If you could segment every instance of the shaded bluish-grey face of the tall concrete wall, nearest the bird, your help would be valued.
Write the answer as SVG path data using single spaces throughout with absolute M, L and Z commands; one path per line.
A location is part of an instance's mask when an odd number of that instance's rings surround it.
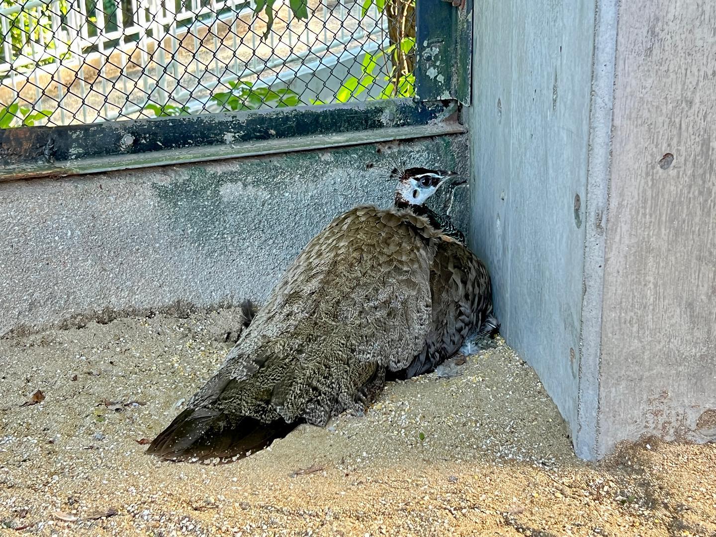
M 488 1 L 474 21 L 473 247 L 505 338 L 574 430 L 594 2 Z

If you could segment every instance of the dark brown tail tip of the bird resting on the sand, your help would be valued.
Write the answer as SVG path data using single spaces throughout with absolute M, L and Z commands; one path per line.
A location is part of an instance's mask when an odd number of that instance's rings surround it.
M 243 458 L 291 432 L 296 423 L 263 423 L 243 417 L 233 425 L 221 410 L 188 408 L 175 417 L 147 448 L 168 460 Z

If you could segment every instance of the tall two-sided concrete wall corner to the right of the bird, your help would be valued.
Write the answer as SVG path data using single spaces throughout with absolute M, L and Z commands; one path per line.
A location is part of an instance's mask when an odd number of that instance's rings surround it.
M 585 458 L 716 439 L 716 4 L 475 9 L 472 239 L 506 339 Z

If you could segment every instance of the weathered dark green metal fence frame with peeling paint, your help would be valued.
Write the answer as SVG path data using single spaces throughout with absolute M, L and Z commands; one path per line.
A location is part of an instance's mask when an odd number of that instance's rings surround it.
M 0 181 L 465 132 L 471 19 L 472 0 L 417 0 L 413 100 L 0 129 Z

